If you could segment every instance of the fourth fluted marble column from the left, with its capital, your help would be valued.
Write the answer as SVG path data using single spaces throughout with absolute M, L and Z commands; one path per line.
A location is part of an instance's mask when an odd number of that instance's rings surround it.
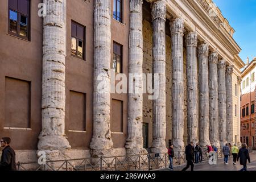
M 166 2 L 152 7 L 154 74 L 159 75 L 159 97 L 153 102 L 153 141 L 151 152 L 166 152 Z

